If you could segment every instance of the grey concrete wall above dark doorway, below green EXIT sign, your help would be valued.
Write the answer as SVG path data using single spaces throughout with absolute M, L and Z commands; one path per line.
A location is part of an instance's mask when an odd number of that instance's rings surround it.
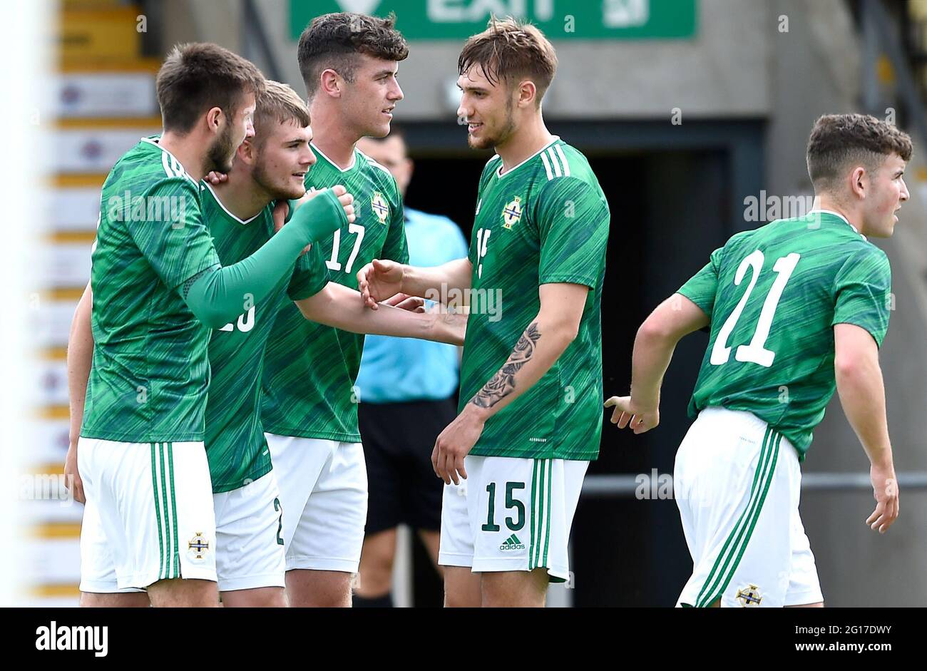
M 303 87 L 296 44 L 288 36 L 279 0 L 260 0 L 271 41 L 278 44 L 286 80 Z M 693 40 L 555 44 L 560 67 L 545 98 L 545 114 L 562 118 L 647 118 L 683 115 L 718 118 L 768 113 L 766 63 L 775 25 L 764 3 L 700 0 Z M 555 34 L 550 35 L 552 39 Z M 400 65 L 405 100 L 400 120 L 453 119 L 446 90 L 457 79 L 462 43 L 415 42 Z M 629 95 L 633 92 L 633 95 Z

